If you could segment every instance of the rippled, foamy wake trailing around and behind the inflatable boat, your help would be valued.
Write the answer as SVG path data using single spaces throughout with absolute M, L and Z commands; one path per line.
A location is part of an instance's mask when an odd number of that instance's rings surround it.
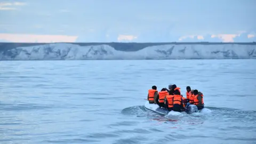
M 244 111 L 233 108 L 218 108 L 218 107 L 205 107 L 200 111 L 200 113 L 187 114 L 185 111 L 181 113 L 177 111 L 170 111 L 166 116 L 155 113 L 154 111 L 147 110 L 145 106 L 133 106 L 124 108 L 121 111 L 124 115 L 135 115 L 137 117 L 147 117 L 155 121 L 164 121 L 164 122 L 177 122 L 177 121 L 186 121 L 191 124 L 195 124 L 200 119 L 241 119 L 246 118 L 246 121 L 254 121 L 254 116 L 256 111 Z M 202 123 L 201 121 L 199 123 Z

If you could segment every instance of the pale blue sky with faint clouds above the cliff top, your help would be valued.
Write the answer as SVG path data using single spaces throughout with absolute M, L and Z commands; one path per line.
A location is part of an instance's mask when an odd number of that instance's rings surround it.
M 256 42 L 255 0 L 0 0 L 0 42 Z

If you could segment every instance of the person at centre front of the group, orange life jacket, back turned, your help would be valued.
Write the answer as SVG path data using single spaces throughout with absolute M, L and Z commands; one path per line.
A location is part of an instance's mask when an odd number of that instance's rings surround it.
M 173 95 L 173 111 L 181 112 L 183 108 L 183 100 L 180 95 L 179 87 L 176 87 L 174 89 L 174 95 Z

